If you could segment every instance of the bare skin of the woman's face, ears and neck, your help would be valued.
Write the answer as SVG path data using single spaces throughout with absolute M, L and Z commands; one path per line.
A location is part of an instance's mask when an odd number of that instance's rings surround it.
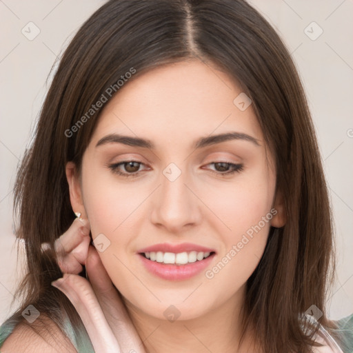
M 261 259 L 270 225 L 285 224 L 273 157 L 252 105 L 241 111 L 233 103 L 241 92 L 227 74 L 201 61 L 151 70 L 105 103 L 81 174 L 73 163 L 66 166 L 72 209 L 88 219 L 93 239 L 99 234 L 109 239 L 99 257 L 147 352 L 175 352 L 180 342 L 183 352 L 205 352 L 205 347 L 234 352 L 246 281 Z M 234 131 L 259 145 L 230 140 L 192 147 L 201 137 Z M 149 139 L 156 147 L 96 147 L 112 133 Z M 119 171 L 138 170 L 138 177 L 122 177 L 108 167 L 126 160 L 142 164 L 121 165 Z M 243 170 L 222 177 L 212 162 L 241 163 Z M 170 163 L 181 171 L 175 181 L 163 174 Z M 272 208 L 276 215 L 212 279 L 203 271 L 192 279 L 166 281 L 145 270 L 137 254 L 157 243 L 191 242 L 216 251 L 212 269 Z M 180 312 L 177 321 L 163 314 L 170 305 Z M 248 332 L 239 352 L 250 349 L 253 334 Z

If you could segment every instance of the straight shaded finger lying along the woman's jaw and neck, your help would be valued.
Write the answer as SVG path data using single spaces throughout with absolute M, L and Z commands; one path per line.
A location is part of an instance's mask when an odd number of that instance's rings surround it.
M 119 292 L 112 284 L 97 250 L 90 246 L 86 270 L 92 288 L 102 307 L 105 317 L 112 327 L 123 352 L 145 352 L 143 343 L 125 308 Z

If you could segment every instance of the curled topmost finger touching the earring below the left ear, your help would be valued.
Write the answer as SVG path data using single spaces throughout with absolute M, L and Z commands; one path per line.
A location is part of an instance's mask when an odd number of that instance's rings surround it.
M 70 228 L 66 230 L 54 243 L 55 251 L 71 252 L 74 248 L 90 235 L 90 223 L 88 219 L 74 219 Z

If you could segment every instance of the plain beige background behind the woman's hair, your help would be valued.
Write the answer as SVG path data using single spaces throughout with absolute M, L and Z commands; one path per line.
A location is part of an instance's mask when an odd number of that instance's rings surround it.
M 0 322 L 9 314 L 14 292 L 12 188 L 17 163 L 30 141 L 54 60 L 104 2 L 0 0 Z M 353 313 L 353 1 L 250 3 L 292 52 L 310 101 L 336 223 L 338 281 L 328 299 L 329 316 L 340 319 Z M 40 32 L 30 41 L 21 30 L 29 36 L 35 34 L 35 26 Z

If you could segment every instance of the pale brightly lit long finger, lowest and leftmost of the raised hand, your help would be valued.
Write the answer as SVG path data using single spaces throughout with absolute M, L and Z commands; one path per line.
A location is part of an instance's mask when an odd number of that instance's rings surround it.
M 52 282 L 52 285 L 63 292 L 74 305 L 90 336 L 95 352 L 121 352 L 97 297 L 86 279 L 76 274 L 64 274 L 62 279 Z

